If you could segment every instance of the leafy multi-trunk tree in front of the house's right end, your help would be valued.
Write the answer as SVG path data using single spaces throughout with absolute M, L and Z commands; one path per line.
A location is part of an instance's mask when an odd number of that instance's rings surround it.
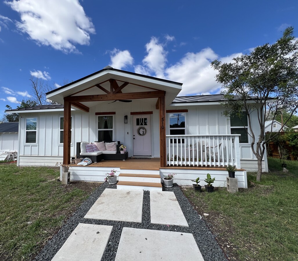
M 242 111 L 247 115 L 247 131 L 251 136 L 252 152 L 257 158 L 258 181 L 261 179 L 266 143 L 280 132 L 264 137 L 268 115 L 275 119 L 286 110 L 292 116 L 298 108 L 298 41 L 293 31 L 293 27 L 285 29 L 283 37 L 276 43 L 258 46 L 250 54 L 234 58 L 233 62 L 215 60 L 211 63 L 218 70 L 216 80 L 224 87 L 224 115 L 240 116 Z M 252 112 L 257 115 L 258 130 L 252 128 Z M 287 124 L 288 120 L 283 124 Z

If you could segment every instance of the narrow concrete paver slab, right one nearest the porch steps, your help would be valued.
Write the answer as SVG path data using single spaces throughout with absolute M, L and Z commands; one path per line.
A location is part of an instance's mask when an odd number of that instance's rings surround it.
M 150 212 L 152 224 L 188 226 L 172 191 L 150 191 Z

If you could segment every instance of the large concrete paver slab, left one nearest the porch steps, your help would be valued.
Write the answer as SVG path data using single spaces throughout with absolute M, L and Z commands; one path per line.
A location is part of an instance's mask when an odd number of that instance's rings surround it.
M 143 190 L 106 188 L 84 218 L 142 222 Z

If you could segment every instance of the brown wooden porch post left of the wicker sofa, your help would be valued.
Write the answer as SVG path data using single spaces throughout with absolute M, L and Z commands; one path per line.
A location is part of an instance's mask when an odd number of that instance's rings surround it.
M 70 143 L 71 143 L 71 103 L 64 101 L 64 128 L 63 128 L 63 163 L 70 164 Z

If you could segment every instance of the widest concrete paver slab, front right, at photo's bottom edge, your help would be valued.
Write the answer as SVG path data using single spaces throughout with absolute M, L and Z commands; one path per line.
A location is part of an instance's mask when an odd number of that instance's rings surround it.
M 124 227 L 115 261 L 204 261 L 192 234 Z

